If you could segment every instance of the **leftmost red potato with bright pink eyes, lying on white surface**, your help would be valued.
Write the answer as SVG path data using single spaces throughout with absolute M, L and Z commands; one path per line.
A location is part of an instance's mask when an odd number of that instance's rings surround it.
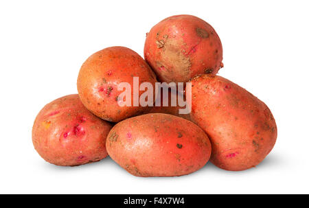
M 78 95 L 47 104 L 38 113 L 32 141 L 38 154 L 55 165 L 82 165 L 107 156 L 106 137 L 112 126 L 95 117 Z

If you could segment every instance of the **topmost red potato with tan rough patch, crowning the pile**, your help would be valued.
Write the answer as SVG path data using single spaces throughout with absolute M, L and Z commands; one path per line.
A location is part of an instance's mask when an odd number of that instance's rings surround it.
M 222 67 L 222 44 L 211 25 L 192 15 L 170 16 L 146 36 L 144 58 L 161 82 L 187 82 Z

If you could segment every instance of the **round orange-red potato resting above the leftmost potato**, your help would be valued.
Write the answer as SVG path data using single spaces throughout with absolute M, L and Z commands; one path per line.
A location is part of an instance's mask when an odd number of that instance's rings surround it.
M 86 108 L 109 122 L 150 111 L 150 107 L 133 106 L 133 77 L 150 82 L 155 89 L 157 78 L 148 64 L 135 51 L 126 47 L 108 47 L 90 56 L 78 75 L 78 93 Z M 121 82 L 131 86 L 131 106 L 119 106 L 117 100 L 123 91 L 117 88 Z M 139 91 L 139 96 L 144 91 Z M 128 97 L 122 97 L 126 100 Z M 153 99 L 155 101 L 155 99 Z

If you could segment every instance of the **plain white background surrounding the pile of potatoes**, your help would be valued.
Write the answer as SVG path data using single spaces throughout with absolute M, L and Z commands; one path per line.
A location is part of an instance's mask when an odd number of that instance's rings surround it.
M 309 194 L 308 8 L 306 1 L 1 1 L 0 193 Z M 242 172 L 207 163 L 171 178 L 131 176 L 110 158 L 79 167 L 41 159 L 34 118 L 77 93 L 82 62 L 114 45 L 143 56 L 146 32 L 174 14 L 210 23 L 223 46 L 219 75 L 271 108 L 278 137 L 268 157 Z

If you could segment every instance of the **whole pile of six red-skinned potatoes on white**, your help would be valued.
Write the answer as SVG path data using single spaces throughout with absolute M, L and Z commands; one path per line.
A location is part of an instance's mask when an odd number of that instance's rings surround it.
M 78 75 L 78 95 L 60 97 L 38 113 L 32 128 L 38 154 L 71 166 L 109 155 L 135 176 L 181 176 L 209 160 L 225 170 L 246 170 L 271 152 L 275 119 L 264 102 L 216 76 L 222 45 L 211 25 L 196 16 L 170 16 L 147 34 L 144 58 L 126 47 L 91 55 Z M 133 86 L 136 77 L 154 86 L 191 82 L 192 112 L 119 106 L 119 84 Z

